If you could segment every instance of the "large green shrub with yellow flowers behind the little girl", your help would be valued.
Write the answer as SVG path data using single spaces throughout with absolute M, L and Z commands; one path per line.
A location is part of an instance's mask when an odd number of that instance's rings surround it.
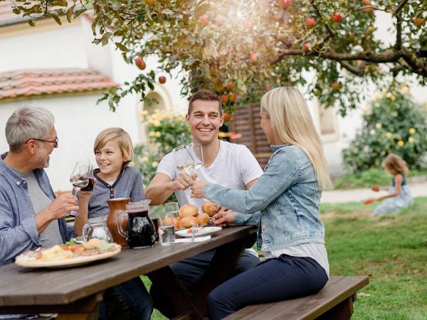
M 351 171 L 381 166 L 393 152 L 413 169 L 427 166 L 427 111 L 408 94 L 408 87 L 384 88 L 363 115 L 364 124 L 347 149 L 344 165 Z

